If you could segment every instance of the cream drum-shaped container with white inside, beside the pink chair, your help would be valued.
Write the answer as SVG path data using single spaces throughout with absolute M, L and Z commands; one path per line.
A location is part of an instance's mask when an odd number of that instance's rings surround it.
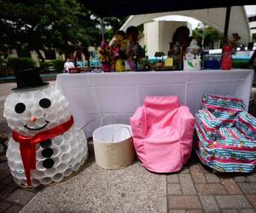
M 131 126 L 110 124 L 93 132 L 96 164 L 104 169 L 121 169 L 135 161 Z

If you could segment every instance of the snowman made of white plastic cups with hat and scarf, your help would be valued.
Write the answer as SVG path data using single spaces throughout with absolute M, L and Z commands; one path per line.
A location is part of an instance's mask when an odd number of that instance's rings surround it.
M 6 157 L 20 186 L 62 181 L 78 171 L 88 156 L 84 131 L 73 124 L 61 91 L 44 83 L 37 69 L 15 72 L 17 88 L 4 102 L 12 137 Z

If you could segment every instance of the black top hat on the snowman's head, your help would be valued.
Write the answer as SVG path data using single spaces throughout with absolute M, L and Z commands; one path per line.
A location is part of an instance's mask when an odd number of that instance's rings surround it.
M 49 84 L 48 82 L 43 82 L 37 68 L 15 71 L 15 81 L 17 83 L 17 87 L 13 90 L 30 89 Z

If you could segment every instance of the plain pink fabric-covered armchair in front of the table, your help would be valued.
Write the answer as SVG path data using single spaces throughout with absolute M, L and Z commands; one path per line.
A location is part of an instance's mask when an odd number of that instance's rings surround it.
M 131 117 L 137 156 L 158 173 L 181 170 L 190 157 L 195 118 L 177 96 L 146 96 Z

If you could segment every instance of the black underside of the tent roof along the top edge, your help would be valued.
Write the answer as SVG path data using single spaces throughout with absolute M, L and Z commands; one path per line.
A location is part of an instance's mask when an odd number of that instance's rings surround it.
M 87 9 L 102 17 L 129 14 L 151 14 L 159 12 L 224 8 L 255 4 L 255 0 L 80 0 Z

